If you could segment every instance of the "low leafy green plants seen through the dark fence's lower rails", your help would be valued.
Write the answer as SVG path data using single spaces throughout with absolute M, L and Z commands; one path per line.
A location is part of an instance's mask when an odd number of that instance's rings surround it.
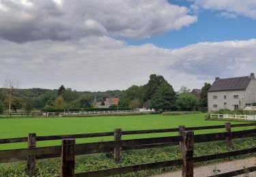
M 246 138 L 240 140 L 233 140 L 234 150 L 244 148 L 253 148 L 256 144 L 256 138 Z M 221 152 L 228 152 L 229 148 L 225 146 L 225 142 L 207 142 L 195 144 L 194 155 L 210 155 Z M 241 159 L 250 157 L 252 155 L 242 155 L 231 159 Z M 113 167 L 122 167 L 128 165 L 136 165 L 141 163 L 152 163 L 156 161 L 168 161 L 182 158 L 177 146 L 170 146 L 165 148 L 152 148 L 147 150 L 127 150 L 122 152 L 122 163 L 116 164 L 113 160 L 113 153 L 102 153 L 96 155 L 76 156 L 75 172 L 89 172 L 94 170 L 102 170 Z M 208 161 L 205 163 L 197 163 L 195 165 L 205 165 L 208 163 L 217 163 L 223 160 Z M 25 162 L 0 164 L 0 176 L 26 176 Z M 45 159 L 37 161 L 38 176 L 55 176 L 59 175 L 60 160 Z M 161 174 L 178 170 L 180 167 L 165 167 L 157 170 L 145 170 L 141 172 L 130 173 L 122 176 L 150 176 L 153 174 Z M 213 169 L 212 169 L 213 170 Z

